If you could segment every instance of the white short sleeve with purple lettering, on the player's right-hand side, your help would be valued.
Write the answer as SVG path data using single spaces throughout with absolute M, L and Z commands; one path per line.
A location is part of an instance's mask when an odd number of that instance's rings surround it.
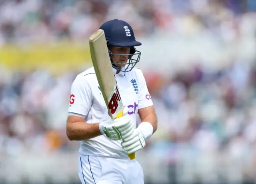
M 147 87 L 147 84 L 146 84 L 146 80 L 145 80 L 145 78 L 142 74 L 142 71 L 139 70 L 137 75 L 138 75 L 138 81 L 139 81 L 138 86 L 140 88 L 138 108 L 141 109 L 141 108 L 145 108 L 145 107 L 148 107 L 148 106 L 153 106 L 153 102 L 152 102 L 151 96 L 148 92 L 148 87 Z

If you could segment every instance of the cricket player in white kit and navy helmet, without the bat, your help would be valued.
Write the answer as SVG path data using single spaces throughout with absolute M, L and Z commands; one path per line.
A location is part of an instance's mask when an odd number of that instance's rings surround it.
M 92 67 L 72 83 L 66 133 L 70 140 L 81 141 L 78 175 L 82 184 L 144 184 L 142 167 L 127 156 L 142 149 L 157 129 L 144 76 L 134 68 L 141 54 L 135 46 L 141 43 L 122 20 L 107 21 L 100 29 L 105 32 L 124 104 L 123 117 L 110 118 Z

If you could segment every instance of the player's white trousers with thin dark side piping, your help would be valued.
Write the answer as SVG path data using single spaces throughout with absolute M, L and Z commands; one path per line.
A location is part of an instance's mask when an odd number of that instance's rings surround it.
M 82 184 L 144 184 L 143 170 L 136 159 L 80 156 L 78 166 Z

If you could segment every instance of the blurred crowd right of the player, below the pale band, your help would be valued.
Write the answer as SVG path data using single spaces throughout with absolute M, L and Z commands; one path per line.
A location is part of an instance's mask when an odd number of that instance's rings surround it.
M 195 66 L 147 80 L 158 113 L 156 140 L 238 158 L 256 150 L 255 64 L 234 61 L 217 71 Z

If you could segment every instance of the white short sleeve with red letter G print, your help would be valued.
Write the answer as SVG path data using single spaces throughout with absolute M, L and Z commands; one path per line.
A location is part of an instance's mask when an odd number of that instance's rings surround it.
M 92 92 L 85 78 L 76 77 L 71 85 L 68 112 L 87 116 L 92 105 Z

